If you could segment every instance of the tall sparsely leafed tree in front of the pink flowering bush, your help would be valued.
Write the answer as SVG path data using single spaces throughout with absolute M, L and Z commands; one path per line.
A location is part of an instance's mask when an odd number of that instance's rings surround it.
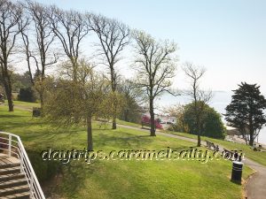
M 141 31 L 134 32 L 133 36 L 136 41 L 136 86 L 142 88 L 149 100 L 151 136 L 155 136 L 154 100 L 165 92 L 173 94 L 170 86 L 176 70 L 176 43 L 157 42 Z

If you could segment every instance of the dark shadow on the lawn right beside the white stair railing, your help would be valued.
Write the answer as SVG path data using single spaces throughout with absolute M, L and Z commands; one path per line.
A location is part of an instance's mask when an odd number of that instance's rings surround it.
M 89 172 L 97 172 L 98 170 L 97 166 L 86 166 L 82 161 L 74 162 L 72 160 L 67 165 L 63 165 L 62 162 L 55 160 L 44 161 L 37 149 L 27 149 L 27 154 L 38 180 L 41 185 L 45 186 L 46 196 L 62 192 L 62 195 L 66 193 L 69 198 L 74 198 L 77 190 L 81 188 L 83 181 L 86 180 L 84 172 L 88 169 L 90 169 Z M 58 184 L 57 179 L 59 176 L 62 179 L 59 180 Z

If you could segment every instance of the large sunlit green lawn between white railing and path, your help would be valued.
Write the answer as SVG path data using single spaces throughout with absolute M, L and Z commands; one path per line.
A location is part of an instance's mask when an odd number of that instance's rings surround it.
M 88 165 L 72 161 L 43 162 L 43 149 L 84 149 L 84 127 L 55 128 L 42 119 L 31 117 L 28 111 L 8 112 L 0 105 L 0 130 L 19 134 L 43 185 L 51 184 L 49 195 L 60 198 L 242 198 L 243 186 L 230 181 L 231 162 L 225 160 L 202 164 L 199 161 L 116 160 L 95 161 Z M 93 125 L 94 149 L 109 152 L 121 149 L 189 149 L 195 147 L 164 136 L 150 137 L 147 133 Z M 243 177 L 253 171 L 245 166 Z M 46 188 L 47 190 L 47 188 Z

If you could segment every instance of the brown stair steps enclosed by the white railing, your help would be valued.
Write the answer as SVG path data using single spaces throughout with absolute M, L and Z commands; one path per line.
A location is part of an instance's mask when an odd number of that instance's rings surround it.
M 20 161 L 15 157 L 0 154 L 0 199 L 29 197 L 29 187 Z

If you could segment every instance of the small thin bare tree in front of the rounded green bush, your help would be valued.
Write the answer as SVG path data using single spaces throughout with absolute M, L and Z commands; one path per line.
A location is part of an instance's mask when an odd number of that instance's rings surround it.
M 196 122 L 196 134 L 198 135 L 198 147 L 200 147 L 200 135 L 202 131 L 202 114 L 204 112 L 205 104 L 212 98 L 211 91 L 204 91 L 200 89 L 200 80 L 206 69 L 204 67 L 192 65 L 192 63 L 184 64 L 184 73 L 191 80 L 191 89 L 185 92 L 188 96 L 192 97 L 194 104 L 194 116 Z

